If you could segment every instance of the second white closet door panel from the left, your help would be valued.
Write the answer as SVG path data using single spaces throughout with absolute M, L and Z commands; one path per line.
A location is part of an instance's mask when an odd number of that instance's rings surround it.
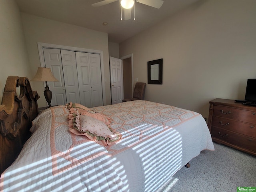
M 60 50 L 67 102 L 80 103 L 76 54 L 74 51 Z

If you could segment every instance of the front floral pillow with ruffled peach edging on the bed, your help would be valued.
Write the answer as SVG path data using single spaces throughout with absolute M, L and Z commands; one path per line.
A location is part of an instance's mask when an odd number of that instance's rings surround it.
M 69 118 L 70 132 L 85 135 L 103 146 L 112 146 L 122 137 L 120 133 L 114 133 L 104 122 L 90 116 L 80 115 L 77 109 L 74 109 Z

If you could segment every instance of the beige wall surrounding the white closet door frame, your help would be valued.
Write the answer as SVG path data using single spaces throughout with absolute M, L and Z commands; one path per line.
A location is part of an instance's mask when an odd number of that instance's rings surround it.
M 104 62 L 106 94 L 104 104 L 111 104 L 108 34 L 30 14 L 22 13 L 21 16 L 32 74 L 36 74 L 37 68 L 40 67 L 37 42 L 100 50 L 103 52 L 102 62 Z M 41 96 L 38 106 L 46 106 L 43 83 L 32 82 L 32 86 L 36 87 Z

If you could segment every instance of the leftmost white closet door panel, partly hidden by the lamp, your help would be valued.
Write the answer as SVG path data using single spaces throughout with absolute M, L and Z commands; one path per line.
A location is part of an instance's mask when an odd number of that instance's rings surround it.
M 47 68 L 51 68 L 52 74 L 59 81 L 48 82 L 49 89 L 52 91 L 52 106 L 64 105 L 67 103 L 66 92 L 62 70 L 62 60 L 59 49 L 43 48 L 44 61 Z

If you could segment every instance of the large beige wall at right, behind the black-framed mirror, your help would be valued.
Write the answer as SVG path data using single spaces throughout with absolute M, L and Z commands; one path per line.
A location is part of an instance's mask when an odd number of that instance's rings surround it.
M 256 78 L 256 1 L 202 0 L 122 42 L 133 54 L 134 79 L 147 82 L 147 62 L 163 58 L 163 84 L 145 99 L 208 117 L 214 98 L 244 99 Z

